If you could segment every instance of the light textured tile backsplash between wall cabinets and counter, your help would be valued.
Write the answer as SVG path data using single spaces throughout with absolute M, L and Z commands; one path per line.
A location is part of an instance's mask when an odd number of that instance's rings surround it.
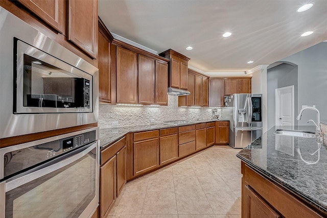
M 168 95 L 168 106 L 125 106 L 99 105 L 100 128 L 111 128 L 112 122 L 118 122 L 119 127 L 148 125 L 151 120 L 162 123 L 167 120 L 180 119 L 211 119 L 213 108 L 178 107 L 178 96 Z M 217 108 L 222 116 L 222 108 Z M 115 124 L 115 123 L 114 123 Z

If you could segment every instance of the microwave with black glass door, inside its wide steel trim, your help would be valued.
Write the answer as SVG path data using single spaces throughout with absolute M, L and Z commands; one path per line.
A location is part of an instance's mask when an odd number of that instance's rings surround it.
M 15 40 L 14 113 L 89 112 L 92 76 Z

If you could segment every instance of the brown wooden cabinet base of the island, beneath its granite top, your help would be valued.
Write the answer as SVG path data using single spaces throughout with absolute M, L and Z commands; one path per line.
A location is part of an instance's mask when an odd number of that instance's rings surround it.
M 243 161 L 241 172 L 242 217 L 327 217 L 284 187 L 253 171 Z

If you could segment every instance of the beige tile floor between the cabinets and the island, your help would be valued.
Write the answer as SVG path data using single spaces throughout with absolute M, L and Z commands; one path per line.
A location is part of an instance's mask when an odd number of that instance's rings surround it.
M 127 183 L 108 217 L 241 217 L 239 151 L 214 146 Z

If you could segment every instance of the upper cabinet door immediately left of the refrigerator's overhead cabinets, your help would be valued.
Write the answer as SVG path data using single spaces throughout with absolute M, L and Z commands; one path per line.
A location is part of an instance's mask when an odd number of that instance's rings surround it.
M 225 80 L 213 79 L 210 81 L 209 102 L 210 107 L 223 107 L 225 94 Z

